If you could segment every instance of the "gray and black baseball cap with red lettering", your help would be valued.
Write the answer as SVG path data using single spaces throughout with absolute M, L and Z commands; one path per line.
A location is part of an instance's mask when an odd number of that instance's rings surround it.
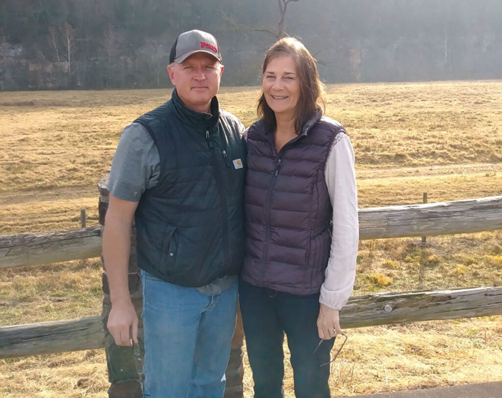
M 169 55 L 169 63 L 176 62 L 180 64 L 190 55 L 198 52 L 211 54 L 221 62 L 221 54 L 216 38 L 210 33 L 194 29 L 184 32 L 176 38 Z

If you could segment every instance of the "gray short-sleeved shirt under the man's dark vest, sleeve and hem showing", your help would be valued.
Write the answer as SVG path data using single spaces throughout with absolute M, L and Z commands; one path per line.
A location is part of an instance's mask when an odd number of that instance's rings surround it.
M 108 191 L 123 200 L 139 202 L 148 188 L 155 187 L 160 176 L 160 156 L 154 140 L 140 123 L 128 124 L 122 131 L 113 156 Z M 220 294 L 234 282 L 235 276 L 216 279 L 197 288 L 206 296 Z

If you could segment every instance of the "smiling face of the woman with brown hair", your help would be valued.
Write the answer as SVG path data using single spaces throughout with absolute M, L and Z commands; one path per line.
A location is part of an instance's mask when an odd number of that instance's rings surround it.
M 262 89 L 267 104 L 276 115 L 294 118 L 300 99 L 295 60 L 288 55 L 271 59 L 263 74 Z

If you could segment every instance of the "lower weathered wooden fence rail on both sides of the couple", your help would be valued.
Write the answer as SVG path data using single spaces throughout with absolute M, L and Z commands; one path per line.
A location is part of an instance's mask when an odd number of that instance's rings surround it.
M 351 297 L 342 328 L 502 314 L 502 287 Z M 0 358 L 104 347 L 100 316 L 0 328 Z

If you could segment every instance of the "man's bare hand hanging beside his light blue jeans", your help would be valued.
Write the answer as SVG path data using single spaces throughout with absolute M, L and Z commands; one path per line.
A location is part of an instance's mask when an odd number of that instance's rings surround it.
M 106 326 L 116 345 L 130 346 L 131 339 L 138 343 L 138 315 L 131 300 L 111 304 Z

